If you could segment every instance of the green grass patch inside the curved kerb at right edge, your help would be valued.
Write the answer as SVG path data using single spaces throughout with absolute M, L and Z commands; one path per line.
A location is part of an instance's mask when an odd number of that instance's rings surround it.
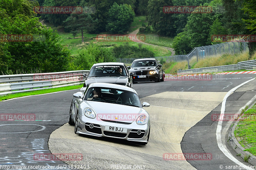
M 245 151 L 256 156 L 256 104 L 245 111 L 241 118 L 235 129 L 235 137 Z

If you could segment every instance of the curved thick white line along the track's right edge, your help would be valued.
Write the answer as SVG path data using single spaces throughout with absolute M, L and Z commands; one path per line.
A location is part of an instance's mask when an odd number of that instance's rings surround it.
M 255 78 L 252 78 L 236 87 L 234 87 L 233 89 L 229 90 L 228 93 L 224 96 L 223 98 L 223 101 L 222 101 L 222 104 L 221 104 L 221 110 L 220 110 L 220 117 L 221 116 L 224 116 L 224 113 L 225 113 L 225 105 L 226 105 L 226 100 L 228 98 L 228 96 L 231 95 L 232 92 L 234 92 L 236 89 L 238 89 L 239 87 L 241 87 L 242 85 L 245 85 L 246 83 L 249 83 L 250 81 L 252 80 L 255 80 Z M 246 166 L 244 165 L 243 163 L 241 163 L 240 161 L 238 161 L 235 157 L 233 157 L 233 155 L 228 151 L 228 149 L 225 147 L 225 144 L 222 143 L 222 140 L 221 140 L 221 128 L 222 128 L 222 121 L 219 121 L 218 122 L 218 125 L 217 125 L 217 129 L 216 129 L 216 139 L 217 139 L 217 144 L 218 144 L 218 147 L 220 148 L 221 152 L 223 152 L 227 157 L 228 159 L 232 160 L 233 162 L 235 162 L 236 164 L 240 165 L 240 166 L 243 166 L 243 167 L 246 167 L 250 170 L 254 170 L 252 168 L 250 168 L 249 166 Z

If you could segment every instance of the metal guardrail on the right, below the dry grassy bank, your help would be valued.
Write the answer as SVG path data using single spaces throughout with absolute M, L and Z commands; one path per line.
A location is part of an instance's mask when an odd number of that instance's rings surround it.
M 233 65 L 222 65 L 215 67 L 204 67 L 198 69 L 188 69 L 188 70 L 179 70 L 177 71 L 178 75 L 182 74 L 193 74 L 193 73 L 213 73 L 213 72 L 222 72 L 229 70 L 254 70 L 256 69 L 256 60 L 242 61 Z

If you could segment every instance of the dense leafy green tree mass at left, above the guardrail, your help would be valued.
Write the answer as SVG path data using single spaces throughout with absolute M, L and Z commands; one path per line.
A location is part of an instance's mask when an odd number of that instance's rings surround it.
M 60 43 L 60 37 L 34 17 L 34 1 L 3 0 L 0 4 L 0 34 L 28 34 L 29 42 L 0 42 L 0 68 L 3 73 L 17 69 L 44 72 L 68 69 L 69 51 Z

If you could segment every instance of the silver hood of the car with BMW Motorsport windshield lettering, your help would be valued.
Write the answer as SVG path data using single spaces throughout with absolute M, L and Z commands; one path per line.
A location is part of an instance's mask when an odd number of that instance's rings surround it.
M 92 83 L 112 83 L 118 85 L 127 85 L 128 78 L 127 77 L 91 77 L 85 80 L 85 85 L 88 86 Z

